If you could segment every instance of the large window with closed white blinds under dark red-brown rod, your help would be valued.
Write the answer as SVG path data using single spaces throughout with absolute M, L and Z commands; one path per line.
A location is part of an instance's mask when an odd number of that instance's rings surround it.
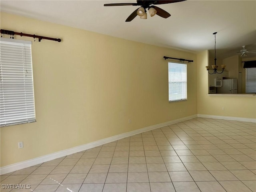
M 0 126 L 35 122 L 31 41 L 0 40 Z

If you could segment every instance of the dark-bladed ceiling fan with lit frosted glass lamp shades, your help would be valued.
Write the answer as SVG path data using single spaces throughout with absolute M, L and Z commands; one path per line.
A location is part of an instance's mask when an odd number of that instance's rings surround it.
M 158 15 L 162 18 L 168 18 L 171 16 L 168 12 L 154 5 L 176 3 L 181 1 L 185 1 L 185 0 L 137 0 L 137 3 L 111 3 L 111 4 L 104 4 L 104 6 L 126 6 L 126 5 L 140 6 L 140 8 L 132 12 L 132 14 L 130 14 L 130 16 L 125 21 L 125 22 L 130 22 L 137 15 L 140 16 L 141 19 L 146 19 L 147 18 L 146 9 L 148 9 L 148 12 L 151 17 L 154 15 Z

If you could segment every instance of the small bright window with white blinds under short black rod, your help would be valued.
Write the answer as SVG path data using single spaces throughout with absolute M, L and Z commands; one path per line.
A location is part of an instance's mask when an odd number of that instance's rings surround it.
M 169 102 L 187 100 L 187 65 L 168 63 Z

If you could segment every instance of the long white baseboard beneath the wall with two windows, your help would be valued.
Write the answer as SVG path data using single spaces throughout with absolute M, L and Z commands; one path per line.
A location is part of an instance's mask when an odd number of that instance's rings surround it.
M 156 129 L 156 128 L 161 128 L 161 127 L 168 126 L 168 125 L 171 125 L 171 124 L 176 124 L 176 123 L 179 123 L 179 122 L 182 122 L 182 121 L 185 121 L 185 120 L 189 120 L 189 119 L 192 119 L 192 118 L 196 118 L 196 117 L 198 117 L 198 115 L 196 115 L 196 114 L 192 115 L 192 116 L 187 116 L 187 117 L 184 117 L 184 118 L 168 121 L 168 122 L 165 122 L 165 123 L 156 124 L 156 125 L 153 125 L 153 126 L 145 127 L 145 128 L 138 129 L 138 130 L 134 130 L 134 131 L 127 132 L 127 133 L 124 133 L 124 134 L 119 134 L 119 135 L 116 135 L 116 136 L 112 136 L 112 137 L 109 137 L 109 138 L 106 138 L 106 139 L 98 140 L 98 141 L 91 142 L 91 143 L 88 143 L 88 144 L 84 144 L 84 145 L 81 145 L 81 146 L 77 146 L 77 147 L 74 147 L 74 148 L 62 150 L 62 151 L 55 152 L 55 153 L 52 153 L 52 154 L 48 154 L 48 155 L 45 155 L 45 156 L 41 156 L 41 157 L 37 157 L 37 158 L 34 158 L 34 159 L 30 159 L 30 160 L 18 162 L 18 163 L 15 163 L 15 164 L 11 164 L 11 165 L 8 165 L 8 166 L 4 166 L 4 167 L 0 168 L 0 174 L 2 175 L 2 174 L 10 173 L 10 172 L 20 170 L 20 169 L 23 169 L 23 168 L 27 168 L 27 167 L 30 167 L 30 166 L 34 166 L 34 165 L 37 165 L 37 164 L 40 164 L 40 163 L 43 163 L 43 162 L 54 160 L 56 158 L 60 158 L 60 157 L 66 156 L 66 155 L 70 155 L 70 154 L 81 152 L 81 151 L 84 151 L 84 150 L 87 150 L 87 149 L 90 149 L 90 148 L 94 148 L 94 147 L 97 147 L 97 146 L 100 146 L 100 145 L 103 145 L 103 144 L 106 144 L 106 143 L 109 143 L 109 142 L 113 142 L 113 141 L 116 141 L 116 140 L 119 140 L 119 139 L 122 139 L 122 138 L 133 136 L 133 135 L 136 135 L 136 134 L 139 134 L 139 133 L 142 133 L 142 132 L 146 132 L 146 131 L 149 131 L 149 130 L 153 130 L 153 129 Z

